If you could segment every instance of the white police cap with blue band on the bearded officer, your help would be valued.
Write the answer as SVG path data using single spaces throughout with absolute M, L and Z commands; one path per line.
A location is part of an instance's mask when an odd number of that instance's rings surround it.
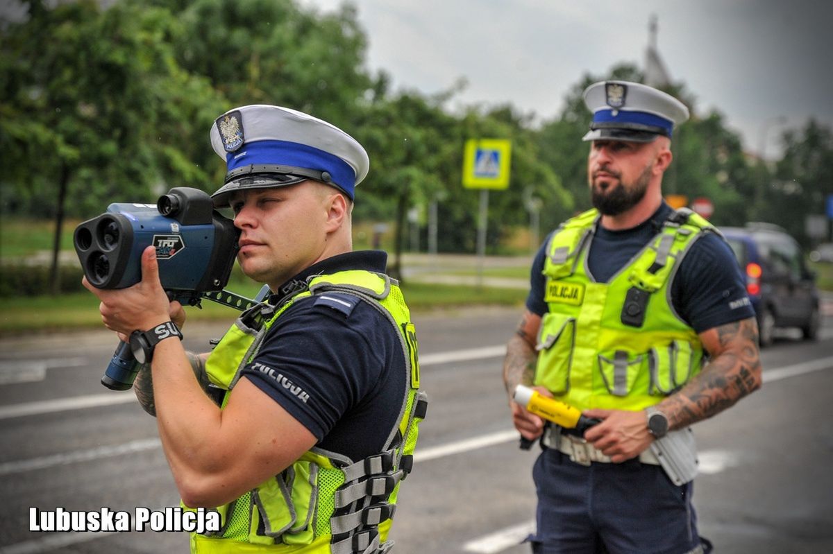
M 681 101 L 638 82 L 596 82 L 586 88 L 584 102 L 593 121 L 583 141 L 671 138 L 674 126 L 688 119 L 688 108 Z

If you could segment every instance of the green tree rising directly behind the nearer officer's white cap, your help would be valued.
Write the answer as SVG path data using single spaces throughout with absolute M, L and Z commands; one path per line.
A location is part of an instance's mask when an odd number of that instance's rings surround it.
M 146 0 L 130 0 L 146 5 Z M 336 12 L 293 0 L 154 0 L 183 32 L 177 62 L 206 77 L 228 101 L 274 104 L 351 128 L 372 86 L 364 68 L 367 37 L 347 3 Z

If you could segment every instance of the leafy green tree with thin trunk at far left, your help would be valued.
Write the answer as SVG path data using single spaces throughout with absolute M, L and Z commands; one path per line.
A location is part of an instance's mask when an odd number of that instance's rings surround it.
M 55 217 L 57 249 L 70 210 L 146 200 L 153 185 L 204 185 L 187 150 L 217 96 L 177 66 L 167 10 L 80 0 L 2 32 L 0 163 L 3 210 Z

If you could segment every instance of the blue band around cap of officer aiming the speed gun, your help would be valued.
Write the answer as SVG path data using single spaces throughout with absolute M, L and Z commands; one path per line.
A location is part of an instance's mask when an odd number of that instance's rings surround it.
M 350 164 L 329 152 L 297 142 L 247 142 L 239 151 L 226 154 L 227 171 L 250 164 L 277 164 L 327 171 L 332 177 L 332 183 L 344 190 L 350 200 L 353 200 L 356 190 L 356 172 Z

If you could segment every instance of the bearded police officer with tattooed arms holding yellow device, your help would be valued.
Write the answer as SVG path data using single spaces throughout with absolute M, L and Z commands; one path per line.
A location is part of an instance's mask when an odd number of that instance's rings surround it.
M 761 387 L 755 314 L 720 233 L 662 197 L 686 106 L 634 82 L 584 99 L 594 209 L 536 255 L 503 368 L 513 423 L 542 449 L 532 551 L 709 552 L 689 426 Z M 558 405 L 581 421 L 549 417 Z

